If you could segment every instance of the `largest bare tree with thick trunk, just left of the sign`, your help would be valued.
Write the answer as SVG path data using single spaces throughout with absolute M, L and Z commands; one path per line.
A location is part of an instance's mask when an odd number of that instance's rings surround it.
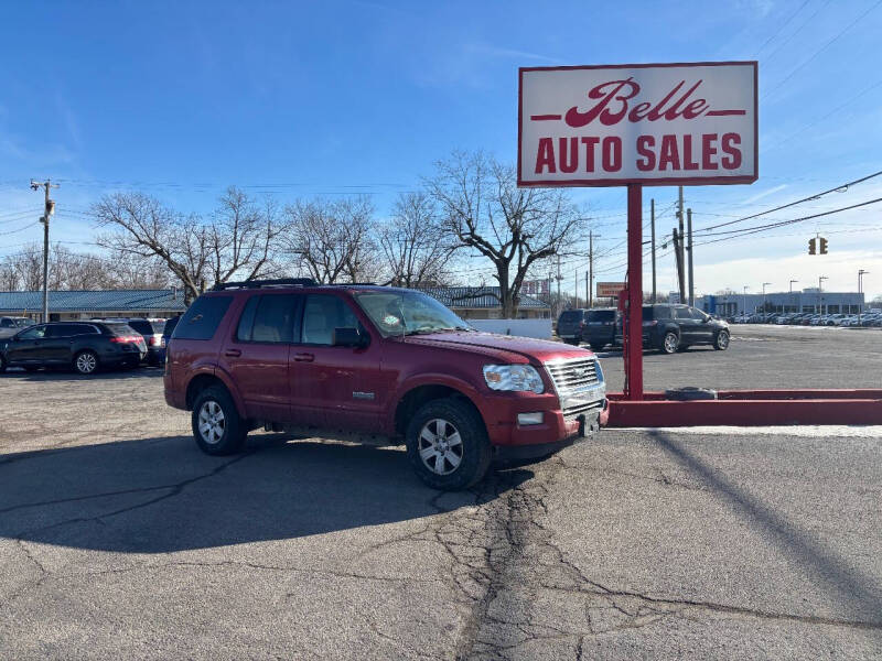
M 520 288 L 534 264 L 573 240 L 582 219 L 558 188 L 518 188 L 515 169 L 477 153 L 454 152 L 426 180 L 441 225 L 460 248 L 493 262 L 503 316 L 517 315 Z

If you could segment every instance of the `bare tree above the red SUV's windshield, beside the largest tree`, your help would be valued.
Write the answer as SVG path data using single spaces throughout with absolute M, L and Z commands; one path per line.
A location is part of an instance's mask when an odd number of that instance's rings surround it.
M 434 201 L 423 192 L 398 196 L 392 217 L 380 228 L 379 246 L 390 284 L 408 288 L 445 280 L 454 250 Z

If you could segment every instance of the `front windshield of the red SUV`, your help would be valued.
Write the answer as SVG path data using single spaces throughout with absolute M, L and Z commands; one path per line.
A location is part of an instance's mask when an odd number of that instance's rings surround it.
M 384 337 L 473 328 L 421 292 L 364 292 L 355 300 Z

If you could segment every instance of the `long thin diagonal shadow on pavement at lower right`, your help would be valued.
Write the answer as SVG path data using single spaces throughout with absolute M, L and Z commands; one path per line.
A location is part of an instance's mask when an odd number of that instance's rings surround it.
M 649 431 L 660 447 L 670 453 L 722 496 L 762 537 L 787 556 L 798 561 L 822 582 L 829 592 L 838 593 L 841 603 L 872 627 L 882 626 L 882 586 L 876 578 L 849 566 L 836 552 L 789 523 L 782 514 L 746 490 L 729 481 L 719 470 L 689 453 L 680 443 L 663 432 Z M 762 567 L 756 567 L 762 572 Z

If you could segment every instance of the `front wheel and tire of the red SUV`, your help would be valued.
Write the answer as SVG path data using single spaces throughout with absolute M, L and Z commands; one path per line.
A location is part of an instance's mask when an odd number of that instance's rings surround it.
M 442 491 L 477 484 L 487 474 L 492 458 L 481 415 L 454 398 L 423 404 L 408 423 L 405 443 L 417 477 Z

